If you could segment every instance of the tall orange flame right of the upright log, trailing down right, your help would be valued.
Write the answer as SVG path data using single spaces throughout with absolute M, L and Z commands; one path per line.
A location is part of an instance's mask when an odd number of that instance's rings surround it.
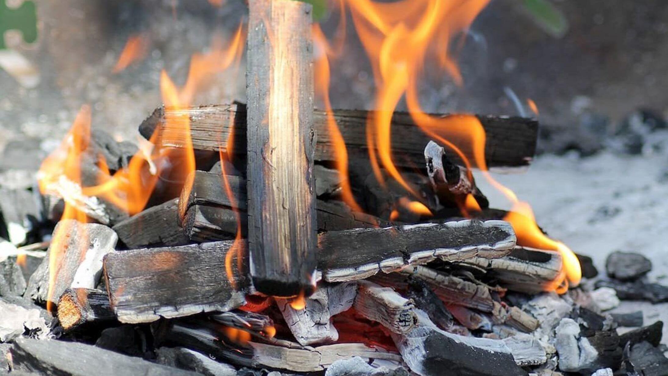
M 449 53 L 450 42 L 468 29 L 488 0 L 344 1 L 371 61 L 378 87 L 375 108 L 379 111 L 367 121 L 367 146 L 379 182 L 383 184 L 382 166 L 407 192 L 418 198 L 393 163 L 391 153 L 391 118 L 401 98 L 405 97 L 411 117 L 423 132 L 454 150 L 467 168 L 479 168 L 490 183 L 514 203 L 512 212 L 504 219 L 516 231 L 518 244 L 558 250 L 562 254 L 563 276 L 549 289 L 560 287 L 558 291 L 564 291 L 566 280 L 577 284 L 580 264 L 572 251 L 542 234 L 528 204 L 520 202 L 511 190 L 488 174 L 486 134 L 478 118 L 471 115 L 437 118 L 426 114 L 420 106 L 418 83 L 430 53 L 436 53 L 441 67 L 455 83 L 462 85 L 462 75 Z M 464 200 L 462 208 L 465 214 L 480 209 L 472 196 Z

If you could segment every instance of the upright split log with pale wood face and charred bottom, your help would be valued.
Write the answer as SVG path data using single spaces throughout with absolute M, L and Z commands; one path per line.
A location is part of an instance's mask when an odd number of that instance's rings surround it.
M 288 0 L 251 0 L 248 7 L 251 277 L 261 293 L 308 296 L 315 287 L 317 265 L 313 8 Z

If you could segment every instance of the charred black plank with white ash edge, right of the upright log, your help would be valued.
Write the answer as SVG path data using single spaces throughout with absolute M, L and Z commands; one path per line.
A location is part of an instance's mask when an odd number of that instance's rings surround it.
M 436 258 L 500 257 L 514 247 L 507 222 L 460 220 L 387 228 L 331 231 L 319 237 L 319 270 L 328 282 L 368 278 Z

